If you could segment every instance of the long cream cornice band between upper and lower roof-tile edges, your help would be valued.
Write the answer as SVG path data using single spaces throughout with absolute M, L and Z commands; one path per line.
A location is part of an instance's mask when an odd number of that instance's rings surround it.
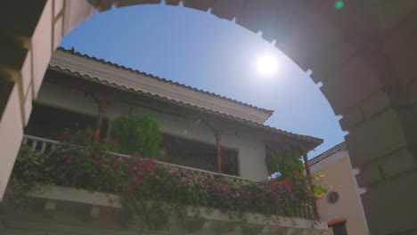
M 89 57 L 57 50 L 53 53 L 50 66 L 68 69 L 81 76 L 94 77 L 102 82 L 133 89 L 137 92 L 151 93 L 169 100 L 184 102 L 203 109 L 210 109 L 236 118 L 246 119 L 262 124 L 271 116 L 271 111 L 258 109 L 232 99 L 225 99 L 215 94 L 200 92 L 195 88 L 164 82 L 150 75 L 121 69 L 92 60 Z

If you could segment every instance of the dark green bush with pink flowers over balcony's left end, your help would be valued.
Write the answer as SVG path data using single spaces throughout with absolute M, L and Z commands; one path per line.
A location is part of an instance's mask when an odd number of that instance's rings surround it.
M 70 132 L 58 137 L 60 143 L 48 154 L 22 145 L 12 170 L 8 198 L 15 207 L 25 207 L 28 193 L 37 184 L 54 184 L 72 188 L 114 191 L 122 185 L 122 166 L 107 153 L 115 141 L 94 137 L 91 128 Z M 99 167 L 100 166 L 100 167 Z

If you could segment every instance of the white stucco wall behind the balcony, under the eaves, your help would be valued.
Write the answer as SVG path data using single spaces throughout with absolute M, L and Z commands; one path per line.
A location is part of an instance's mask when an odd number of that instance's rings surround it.
M 98 113 L 97 104 L 91 95 L 86 96 L 86 93 L 61 85 L 44 83 L 37 96 L 37 103 L 72 110 L 93 117 L 97 116 Z M 106 109 L 104 117 L 110 118 L 110 120 L 118 118 L 120 114 L 127 114 L 129 107 L 132 107 L 133 112 L 137 115 L 151 115 L 152 119 L 159 123 L 160 130 L 163 133 L 216 145 L 214 134 L 207 126 L 195 126 L 192 120 L 135 107 L 119 101 L 113 102 Z M 188 133 L 184 134 L 184 130 L 187 130 Z M 266 150 L 261 138 L 249 133 L 244 128 L 233 128 L 225 131 L 221 143 L 223 147 L 238 150 L 241 177 L 256 180 L 266 179 Z

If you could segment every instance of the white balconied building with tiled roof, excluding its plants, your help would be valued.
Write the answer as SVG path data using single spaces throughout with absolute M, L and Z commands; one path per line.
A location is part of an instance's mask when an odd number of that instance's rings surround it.
M 53 54 L 34 101 L 22 146 L 47 153 L 57 146 L 57 138 L 61 139 L 65 128 L 87 126 L 105 139 L 112 120 L 127 113 L 148 116 L 159 124 L 159 165 L 197 173 L 201 180 L 222 177 L 241 185 L 266 182 L 266 157 L 271 151 L 293 149 L 300 153 L 298 158 L 301 154 L 306 158 L 308 150 L 323 142 L 265 126 L 272 110 L 60 48 Z M 113 158 L 129 158 L 112 154 Z M 53 186 L 33 191 L 30 197 L 37 207 L 25 213 L 7 209 L 7 200 L 4 202 L 8 214 L 1 215 L 0 221 L 5 234 L 243 232 L 219 210 L 199 214 L 198 221 L 188 223 L 173 219 L 170 231 L 159 231 L 146 229 L 141 219 L 135 219 L 130 226 L 120 226 L 117 218 L 121 205 L 116 194 Z M 78 207 L 86 215 L 76 213 L 74 209 Z M 254 234 L 320 234 L 327 225 L 316 220 L 316 213 L 315 202 L 306 201 L 276 218 L 248 215 L 245 223 Z M 186 216 L 195 215 L 188 211 Z

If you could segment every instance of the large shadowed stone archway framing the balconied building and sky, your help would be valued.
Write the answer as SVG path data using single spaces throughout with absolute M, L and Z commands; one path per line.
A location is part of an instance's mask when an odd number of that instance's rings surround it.
M 166 0 L 179 4 L 180 0 Z M 257 33 L 287 53 L 316 83 L 349 132 L 347 147 L 372 234 L 417 231 L 417 61 L 413 0 L 183 0 Z M 0 10 L 0 194 L 51 53 L 72 28 L 112 4 L 160 0 L 7 1 Z M 414 47 L 415 48 L 415 47 Z

